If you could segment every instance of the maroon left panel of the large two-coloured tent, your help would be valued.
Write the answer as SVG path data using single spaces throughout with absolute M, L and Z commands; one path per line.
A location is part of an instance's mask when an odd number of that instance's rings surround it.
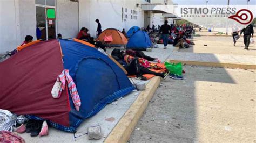
M 0 109 L 69 126 L 66 91 L 59 99 L 51 95 L 53 84 L 63 71 L 57 40 L 24 48 L 1 62 L 0 69 Z

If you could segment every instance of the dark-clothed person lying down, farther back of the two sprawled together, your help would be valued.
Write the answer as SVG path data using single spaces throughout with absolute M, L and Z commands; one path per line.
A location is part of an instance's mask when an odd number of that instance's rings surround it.
M 123 55 L 124 52 L 122 51 L 121 54 Z M 131 56 L 136 56 L 136 57 L 139 57 L 139 58 L 143 58 L 143 59 L 146 59 L 148 61 L 156 61 L 156 62 L 161 62 L 159 59 L 157 58 L 152 58 L 150 56 L 147 56 L 145 55 L 142 51 L 133 51 L 131 49 L 127 49 L 125 51 L 125 55 L 131 55 Z

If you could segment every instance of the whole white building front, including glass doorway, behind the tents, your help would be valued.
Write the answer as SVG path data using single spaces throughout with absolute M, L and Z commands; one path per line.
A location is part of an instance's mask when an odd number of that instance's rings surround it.
M 157 5 L 172 4 L 170 0 L 1 0 L 0 54 L 19 46 L 26 35 L 37 39 L 75 38 L 86 27 L 93 37 L 100 20 L 102 30 L 117 28 L 127 31 L 136 25 L 161 25 L 166 11 Z M 172 22 L 171 19 L 169 19 Z

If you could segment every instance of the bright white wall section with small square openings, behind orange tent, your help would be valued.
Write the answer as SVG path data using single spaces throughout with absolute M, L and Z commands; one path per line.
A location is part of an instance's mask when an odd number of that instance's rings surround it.
M 96 35 L 97 23 L 99 19 L 102 24 L 102 30 L 106 28 L 117 28 L 118 30 L 129 30 L 136 25 L 144 26 L 144 11 L 136 4 L 141 4 L 142 0 L 80 0 L 79 1 L 79 28 L 86 27 L 93 37 Z M 122 21 L 122 7 L 124 8 L 124 17 Z M 127 9 L 127 12 L 125 12 Z M 137 15 L 131 13 L 136 10 Z M 127 18 L 125 18 L 127 15 Z M 131 19 L 131 16 L 137 16 L 137 19 Z

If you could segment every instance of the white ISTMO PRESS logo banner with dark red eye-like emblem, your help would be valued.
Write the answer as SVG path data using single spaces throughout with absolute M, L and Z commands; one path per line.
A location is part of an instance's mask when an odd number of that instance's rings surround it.
M 174 12 L 191 23 L 205 27 L 224 27 L 227 24 L 247 26 L 254 19 L 255 5 L 180 5 Z

